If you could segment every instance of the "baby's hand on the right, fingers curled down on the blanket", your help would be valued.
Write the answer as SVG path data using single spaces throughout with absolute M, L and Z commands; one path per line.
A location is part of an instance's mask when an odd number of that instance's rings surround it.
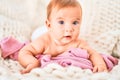
M 93 68 L 93 72 L 108 72 L 105 64 L 97 64 Z

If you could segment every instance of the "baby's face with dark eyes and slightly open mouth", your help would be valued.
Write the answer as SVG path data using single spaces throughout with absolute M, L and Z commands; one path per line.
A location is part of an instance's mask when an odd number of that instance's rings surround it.
M 61 45 L 75 41 L 79 36 L 81 17 L 80 7 L 54 8 L 48 21 L 53 39 Z

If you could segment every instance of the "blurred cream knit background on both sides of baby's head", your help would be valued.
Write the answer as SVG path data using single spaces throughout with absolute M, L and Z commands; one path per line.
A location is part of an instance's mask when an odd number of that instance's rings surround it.
M 35 29 L 45 26 L 49 1 L 0 0 L 0 39 L 30 40 Z M 83 8 L 80 36 L 100 52 L 120 53 L 120 0 L 78 1 Z

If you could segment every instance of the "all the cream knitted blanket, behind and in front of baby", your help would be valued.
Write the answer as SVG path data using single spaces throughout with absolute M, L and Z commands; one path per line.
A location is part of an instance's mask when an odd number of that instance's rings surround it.
M 81 37 L 100 53 L 120 57 L 120 1 L 79 0 L 83 6 Z M 34 30 L 44 25 L 48 0 L 0 0 L 0 39 L 14 36 L 30 40 Z M 32 36 L 33 37 L 33 36 Z M 0 52 L 0 54 L 2 54 Z M 49 64 L 20 74 L 17 61 L 0 56 L 0 80 L 120 80 L 120 62 L 112 71 L 92 73 L 78 67 Z

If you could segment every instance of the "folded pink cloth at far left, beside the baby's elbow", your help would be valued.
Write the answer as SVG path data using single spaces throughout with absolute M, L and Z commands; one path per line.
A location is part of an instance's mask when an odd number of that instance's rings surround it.
M 21 43 L 13 37 L 6 37 L 0 41 L 0 47 L 2 50 L 2 57 L 10 57 L 13 60 L 17 60 L 19 50 L 25 46 L 26 43 Z

